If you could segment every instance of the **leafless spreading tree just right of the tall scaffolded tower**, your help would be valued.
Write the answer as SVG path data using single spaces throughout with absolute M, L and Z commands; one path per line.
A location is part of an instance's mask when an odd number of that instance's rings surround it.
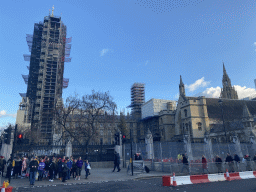
M 70 140 L 88 152 L 88 145 L 96 141 L 100 124 L 114 119 L 116 104 L 109 92 L 95 92 L 78 98 L 69 97 L 65 104 L 56 104 L 56 131 L 62 140 Z

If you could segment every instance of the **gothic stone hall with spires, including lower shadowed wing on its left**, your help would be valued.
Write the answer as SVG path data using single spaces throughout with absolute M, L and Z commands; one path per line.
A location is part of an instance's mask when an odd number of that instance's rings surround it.
M 256 101 L 238 100 L 224 64 L 222 84 L 222 102 L 219 98 L 188 97 L 180 77 L 177 106 L 142 119 L 142 126 L 137 129 L 140 133 L 149 129 L 155 141 L 183 141 L 189 135 L 192 142 L 203 142 L 208 135 L 212 142 L 232 141 L 233 136 L 248 142 L 256 134 Z M 144 134 L 137 136 L 140 141 L 145 138 Z

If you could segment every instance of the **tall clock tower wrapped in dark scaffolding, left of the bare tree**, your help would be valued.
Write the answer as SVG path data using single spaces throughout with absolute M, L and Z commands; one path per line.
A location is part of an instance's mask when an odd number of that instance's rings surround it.
M 61 17 L 44 17 L 43 22 L 35 23 L 33 35 L 26 35 L 31 55 L 24 54 L 29 75 L 22 75 L 27 86 L 29 109 L 27 120 L 31 131 L 40 132 L 40 143 L 52 143 L 54 131 L 54 107 L 62 99 L 63 88 L 68 87 L 69 79 L 63 78 L 64 62 L 71 62 L 72 38 L 66 38 L 66 26 Z M 29 122 L 27 122 L 29 123 Z

